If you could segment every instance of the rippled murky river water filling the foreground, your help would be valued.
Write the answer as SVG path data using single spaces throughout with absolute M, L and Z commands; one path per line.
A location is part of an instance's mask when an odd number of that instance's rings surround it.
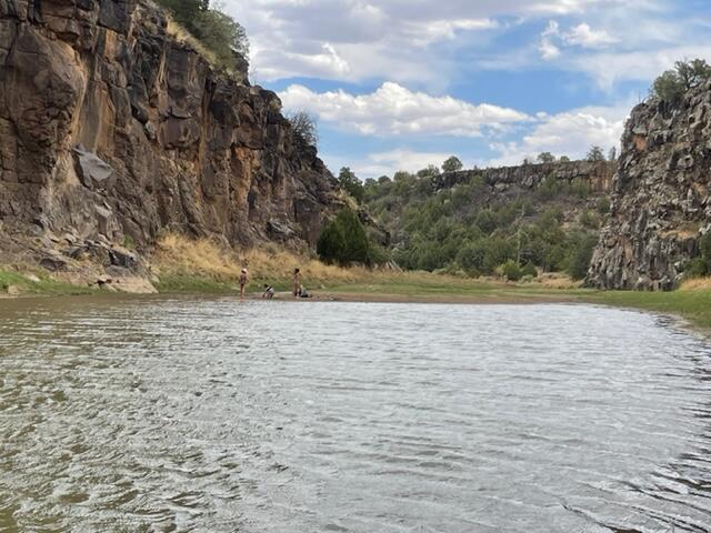
M 2 532 L 711 531 L 711 346 L 585 305 L 0 301 Z

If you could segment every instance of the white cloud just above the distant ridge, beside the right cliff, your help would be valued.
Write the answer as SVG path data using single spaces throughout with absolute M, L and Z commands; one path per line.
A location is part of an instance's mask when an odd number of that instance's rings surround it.
M 520 164 L 541 152 L 581 159 L 593 145 L 605 150 L 619 147 L 624 122 L 632 107 L 625 101 L 614 107 L 580 108 L 557 114 L 538 113 L 537 123 L 519 142 L 492 143 L 500 155 L 491 165 Z

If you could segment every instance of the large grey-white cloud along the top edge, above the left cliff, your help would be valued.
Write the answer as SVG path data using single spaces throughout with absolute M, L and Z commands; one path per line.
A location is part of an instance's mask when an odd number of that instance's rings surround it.
M 637 1 L 637 0 L 629 0 Z M 258 81 L 388 78 L 445 84 L 458 69 L 434 44 L 500 31 L 501 17 L 581 13 L 614 0 L 226 0 L 248 31 Z M 324 50 L 324 46 L 329 49 Z M 431 69 L 438 64 L 437 72 Z

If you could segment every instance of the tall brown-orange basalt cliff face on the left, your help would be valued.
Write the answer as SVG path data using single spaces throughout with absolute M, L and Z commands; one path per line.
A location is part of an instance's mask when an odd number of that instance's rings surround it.
M 0 232 L 311 245 L 337 188 L 280 109 L 149 0 L 0 0 Z

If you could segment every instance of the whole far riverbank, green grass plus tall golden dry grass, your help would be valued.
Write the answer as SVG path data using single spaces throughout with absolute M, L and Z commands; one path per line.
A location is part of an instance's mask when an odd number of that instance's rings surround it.
M 162 239 L 151 257 L 150 281 L 163 294 L 234 294 L 239 265 L 251 273 L 250 298 L 268 283 L 288 293 L 291 272 L 300 268 L 303 283 L 316 300 L 422 303 L 594 303 L 673 314 L 705 332 L 711 331 L 711 282 L 690 281 L 674 292 L 619 292 L 582 289 L 560 275 L 527 283 L 473 280 L 428 272 L 342 269 L 277 248 L 232 252 L 210 241 L 178 235 Z M 0 294 L 74 295 L 124 289 L 70 283 L 41 269 L 22 271 L 0 266 Z M 279 298 L 289 298 L 279 294 Z

